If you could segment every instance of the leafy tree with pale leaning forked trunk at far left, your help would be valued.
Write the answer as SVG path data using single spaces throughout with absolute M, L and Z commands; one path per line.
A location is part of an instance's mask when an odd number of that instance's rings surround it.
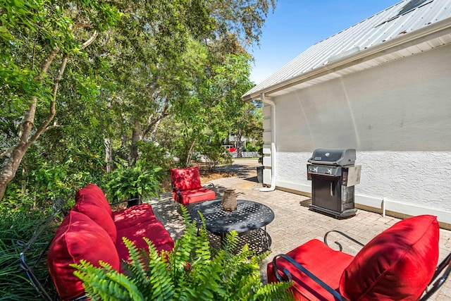
M 59 4 L 59 5 L 58 5 Z M 69 58 L 82 55 L 99 32 L 120 14 L 107 1 L 2 1 L 0 4 L 1 115 L 17 128 L 4 140 L 0 157 L 0 199 L 16 175 L 27 149 L 51 125 L 58 87 Z

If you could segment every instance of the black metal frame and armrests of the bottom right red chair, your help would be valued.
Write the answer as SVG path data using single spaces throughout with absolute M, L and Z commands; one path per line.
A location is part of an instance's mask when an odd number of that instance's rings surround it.
M 327 241 L 327 237 L 328 237 L 329 233 L 339 233 L 340 235 L 351 240 L 352 242 L 356 243 L 357 245 L 364 247 L 364 244 L 362 244 L 362 242 L 359 242 L 359 241 L 355 240 L 354 238 L 351 238 L 349 235 L 342 233 L 341 231 L 336 231 L 336 230 L 328 231 L 328 233 L 326 233 L 324 235 L 324 243 L 327 246 L 329 246 L 328 241 Z M 340 244 L 340 242 L 335 241 L 334 243 L 335 243 L 335 245 L 338 245 L 338 248 L 341 252 L 342 245 Z M 286 254 L 278 254 L 273 258 L 273 273 L 274 273 L 274 276 L 276 276 L 276 279 L 278 281 L 288 281 L 288 282 L 292 281 L 292 276 L 290 274 L 290 271 L 288 271 L 288 269 L 283 269 L 282 271 L 280 271 L 278 269 L 278 267 L 277 267 L 277 258 L 278 257 L 282 257 L 283 259 L 286 259 L 288 262 L 290 262 L 290 264 L 292 264 L 292 266 L 294 266 L 296 269 L 298 269 L 299 271 L 301 271 L 302 273 L 307 275 L 309 278 L 311 278 L 313 281 L 315 281 L 316 283 L 321 285 L 322 288 L 327 290 L 328 293 L 333 295 L 337 300 L 342 300 L 342 301 L 347 300 L 345 297 L 340 295 L 336 290 L 334 290 L 333 288 L 330 288 L 329 285 L 327 285 L 326 283 L 321 281 L 320 278 L 318 278 L 317 276 L 312 274 L 304 266 L 302 266 L 301 264 L 296 262 L 295 259 L 292 259 L 291 257 L 289 257 Z M 451 272 L 451 253 L 448 254 L 447 257 L 445 257 L 445 259 L 443 259 L 442 262 L 440 262 L 440 264 L 438 264 L 438 266 L 435 268 L 435 273 L 432 277 L 432 280 L 428 283 L 428 285 L 424 289 L 424 293 L 421 296 L 421 298 L 419 299 L 419 301 L 428 300 L 429 297 L 431 297 L 432 295 L 437 293 L 438 290 L 440 289 L 440 287 L 443 285 L 443 283 L 445 283 L 445 281 L 447 280 L 447 277 L 450 275 L 450 272 Z

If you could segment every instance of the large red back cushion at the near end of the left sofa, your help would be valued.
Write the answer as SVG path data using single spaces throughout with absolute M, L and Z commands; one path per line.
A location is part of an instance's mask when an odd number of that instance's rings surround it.
M 56 231 L 49 247 L 47 264 L 61 300 L 71 300 L 85 293 L 82 281 L 69 264 L 85 259 L 94 266 L 99 260 L 119 270 L 118 253 L 110 236 L 85 214 L 70 211 Z

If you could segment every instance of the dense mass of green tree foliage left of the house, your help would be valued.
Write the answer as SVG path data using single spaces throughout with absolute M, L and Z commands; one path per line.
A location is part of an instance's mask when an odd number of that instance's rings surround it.
M 210 145 L 234 128 L 224 112 L 235 111 L 248 83 L 241 70 L 250 58 L 241 55 L 247 42 L 258 42 L 275 1 L 133 4 L 0 1 L 2 202 L 27 198 L 39 206 L 85 183 L 101 185 L 104 138 L 128 151 L 137 133 L 183 164 L 208 146 L 218 161 Z M 158 138 L 164 118 L 177 123 L 170 143 Z M 163 169 L 172 164 L 166 154 L 140 155 Z

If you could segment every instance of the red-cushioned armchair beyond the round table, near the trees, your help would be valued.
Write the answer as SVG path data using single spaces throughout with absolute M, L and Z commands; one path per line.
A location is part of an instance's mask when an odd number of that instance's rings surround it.
M 172 168 L 171 182 L 175 202 L 189 205 L 216 199 L 216 192 L 204 188 L 200 182 L 199 167 Z M 209 183 L 214 187 L 213 183 Z

